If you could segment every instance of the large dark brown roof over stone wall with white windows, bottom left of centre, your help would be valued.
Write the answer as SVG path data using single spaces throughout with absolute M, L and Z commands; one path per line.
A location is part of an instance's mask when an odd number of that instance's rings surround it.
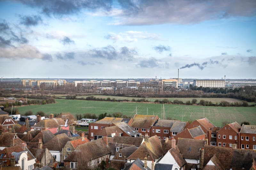
M 80 158 L 83 158 L 84 161 L 89 161 L 107 154 L 110 154 L 110 149 L 103 138 L 100 138 L 77 146 L 65 161 L 78 161 Z

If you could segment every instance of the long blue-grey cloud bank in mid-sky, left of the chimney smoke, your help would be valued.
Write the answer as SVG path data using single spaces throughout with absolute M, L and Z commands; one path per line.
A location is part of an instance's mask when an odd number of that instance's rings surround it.
M 127 60 L 131 61 L 134 58 L 134 55 L 137 55 L 138 52 L 135 49 L 129 49 L 124 46 L 117 50 L 113 46 L 106 46 L 102 48 L 94 48 L 86 52 L 86 56 L 92 58 L 102 58 L 107 60 Z

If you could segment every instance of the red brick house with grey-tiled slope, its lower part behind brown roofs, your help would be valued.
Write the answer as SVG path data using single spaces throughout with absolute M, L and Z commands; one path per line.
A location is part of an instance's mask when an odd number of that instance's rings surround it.
M 173 138 L 178 141 L 178 138 L 189 138 L 189 139 L 198 139 L 198 140 L 205 140 L 206 134 L 202 130 L 201 126 L 192 128 L 192 129 L 185 129 L 184 131 L 180 132 L 179 134 L 175 135 Z

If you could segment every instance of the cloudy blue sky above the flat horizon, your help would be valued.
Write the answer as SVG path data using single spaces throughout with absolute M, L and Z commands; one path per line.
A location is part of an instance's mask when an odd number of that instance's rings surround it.
M 256 79 L 255 0 L 0 1 L 4 78 Z

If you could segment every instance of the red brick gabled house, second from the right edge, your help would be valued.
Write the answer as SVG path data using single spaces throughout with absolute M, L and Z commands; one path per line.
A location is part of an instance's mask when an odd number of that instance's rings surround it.
M 232 147 L 232 144 L 235 144 L 236 147 L 239 147 L 239 131 L 241 129 L 240 124 L 233 122 L 231 124 L 226 124 L 219 131 L 217 131 L 217 146 L 222 147 Z M 216 146 L 213 143 L 210 145 Z

